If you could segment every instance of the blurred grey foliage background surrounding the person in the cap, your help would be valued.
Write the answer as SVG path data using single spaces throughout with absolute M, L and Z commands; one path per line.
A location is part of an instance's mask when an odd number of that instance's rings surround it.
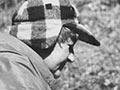
M 11 16 L 24 0 L 0 0 L 0 28 L 11 24 Z M 78 41 L 76 61 L 67 64 L 58 90 L 120 90 L 120 0 L 71 0 L 101 42 L 94 47 Z M 16 8 L 15 8 L 16 7 Z

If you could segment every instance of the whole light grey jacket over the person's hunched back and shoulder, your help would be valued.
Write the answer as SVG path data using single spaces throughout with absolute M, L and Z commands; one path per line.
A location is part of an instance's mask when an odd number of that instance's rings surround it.
M 16 38 L 0 33 L 0 90 L 51 90 L 55 83 L 37 53 Z

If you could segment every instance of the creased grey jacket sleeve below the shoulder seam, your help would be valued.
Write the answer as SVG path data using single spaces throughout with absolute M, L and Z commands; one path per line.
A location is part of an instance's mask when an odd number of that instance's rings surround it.
M 42 76 L 37 76 L 28 58 L 0 53 L 0 90 L 50 90 Z

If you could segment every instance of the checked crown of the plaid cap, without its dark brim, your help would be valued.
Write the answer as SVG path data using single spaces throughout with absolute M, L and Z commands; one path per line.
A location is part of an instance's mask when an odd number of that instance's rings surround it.
M 28 0 L 14 14 L 10 34 L 30 46 L 49 48 L 75 16 L 69 0 Z

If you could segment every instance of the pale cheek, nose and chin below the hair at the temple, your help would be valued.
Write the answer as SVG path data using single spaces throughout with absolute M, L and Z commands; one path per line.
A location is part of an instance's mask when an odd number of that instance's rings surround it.
M 52 53 L 44 61 L 54 76 L 59 77 L 65 64 L 69 61 L 74 61 L 74 54 L 70 52 L 70 46 L 68 44 L 59 45 L 57 43 Z

